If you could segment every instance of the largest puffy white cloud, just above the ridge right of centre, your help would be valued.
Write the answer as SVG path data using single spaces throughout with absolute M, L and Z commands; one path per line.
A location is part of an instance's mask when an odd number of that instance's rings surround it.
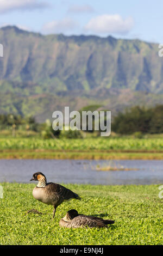
M 132 17 L 123 19 L 120 15 L 100 15 L 92 18 L 84 27 L 84 31 L 93 33 L 127 34 L 134 25 Z

